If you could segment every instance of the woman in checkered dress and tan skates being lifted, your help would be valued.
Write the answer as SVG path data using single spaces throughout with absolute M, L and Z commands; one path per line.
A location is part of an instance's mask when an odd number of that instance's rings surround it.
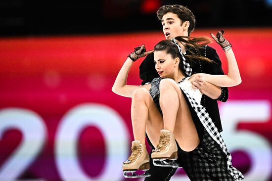
M 149 156 L 144 144 L 146 133 L 151 143 L 157 145 L 151 154 L 154 164 L 177 167 L 177 163 L 169 160 L 176 160 L 179 150 L 191 153 L 180 161 L 191 180 L 243 179 L 242 174 L 231 166 L 231 156 L 222 137 L 205 108 L 200 105 L 200 91 L 193 90 L 191 85 L 196 77 L 220 87 L 241 83 L 231 45 L 222 33 L 218 32 L 217 38 L 211 35 L 226 52 L 227 75 L 194 74 L 189 77 L 190 61 L 212 61 L 197 55 L 183 55 L 179 44 L 183 43 L 198 50 L 203 44 L 196 43 L 205 41 L 206 45 L 209 43 L 207 38 L 191 40 L 189 37 L 176 37 L 155 45 L 154 61 L 160 78 L 155 78 L 151 85 L 128 86 L 126 82 L 133 61 L 152 51 L 145 52 L 142 45 L 129 55 L 112 88 L 119 95 L 133 97 L 132 124 L 135 141 L 132 142 L 132 154 L 123 164 L 125 177 L 149 176 L 148 172 L 143 175 L 135 174 L 136 170 L 149 169 Z M 135 95 L 139 95 L 136 92 L 139 91 L 142 96 L 136 97 Z

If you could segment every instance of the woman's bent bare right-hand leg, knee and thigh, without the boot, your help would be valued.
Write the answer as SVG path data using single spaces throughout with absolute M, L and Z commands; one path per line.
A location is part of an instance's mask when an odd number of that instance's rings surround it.
M 163 79 L 161 81 L 160 105 L 163 112 L 164 129 L 174 133 L 175 139 L 184 151 L 195 149 L 199 144 L 199 137 L 187 102 L 174 80 Z

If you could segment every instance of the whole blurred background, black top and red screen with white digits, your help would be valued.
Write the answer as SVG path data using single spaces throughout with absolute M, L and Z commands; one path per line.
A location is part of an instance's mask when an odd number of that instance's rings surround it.
M 134 47 L 165 38 L 156 11 L 177 3 L 196 16 L 191 36 L 225 30 L 242 84 L 219 102 L 222 135 L 244 181 L 272 181 L 272 0 L 0 0 L 0 181 L 126 180 L 131 99 L 111 87 Z

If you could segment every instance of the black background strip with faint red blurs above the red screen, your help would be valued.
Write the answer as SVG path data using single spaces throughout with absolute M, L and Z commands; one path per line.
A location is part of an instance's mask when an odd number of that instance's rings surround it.
M 0 36 L 158 31 L 164 4 L 188 6 L 197 29 L 272 24 L 272 0 L 1 0 Z

